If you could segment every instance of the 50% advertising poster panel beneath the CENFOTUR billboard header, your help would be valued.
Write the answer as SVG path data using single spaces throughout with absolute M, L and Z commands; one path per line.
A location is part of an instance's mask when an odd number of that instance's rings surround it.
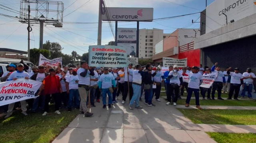
M 117 46 L 125 47 L 127 55 L 136 56 L 137 43 L 136 28 L 118 28 Z

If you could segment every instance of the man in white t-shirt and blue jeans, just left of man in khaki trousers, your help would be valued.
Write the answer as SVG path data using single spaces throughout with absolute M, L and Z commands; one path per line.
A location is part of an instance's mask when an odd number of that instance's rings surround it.
M 72 106 L 74 108 L 80 108 L 80 99 L 79 99 L 79 92 L 78 92 L 78 75 L 77 70 L 73 69 L 72 75 L 66 76 L 66 89 L 67 93 L 69 94 L 68 98 L 68 112 L 71 111 Z M 74 102 L 73 102 L 74 99 Z

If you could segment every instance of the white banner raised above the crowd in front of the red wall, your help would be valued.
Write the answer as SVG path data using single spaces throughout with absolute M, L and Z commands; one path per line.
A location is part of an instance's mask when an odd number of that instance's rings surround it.
M 187 67 L 187 58 L 185 59 L 175 59 L 175 58 L 163 58 L 163 66 L 169 67 L 177 65 L 179 68 Z

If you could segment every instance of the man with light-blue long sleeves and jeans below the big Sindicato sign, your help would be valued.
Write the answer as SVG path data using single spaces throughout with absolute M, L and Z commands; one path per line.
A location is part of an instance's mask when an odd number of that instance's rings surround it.
M 108 94 L 108 108 L 111 108 L 112 104 L 112 93 L 113 93 L 113 88 L 116 88 L 116 82 L 115 78 L 112 73 L 108 72 L 108 68 L 104 69 L 104 74 L 100 75 L 99 79 L 99 88 L 102 90 L 102 102 L 103 102 L 103 108 L 106 108 L 106 97 Z

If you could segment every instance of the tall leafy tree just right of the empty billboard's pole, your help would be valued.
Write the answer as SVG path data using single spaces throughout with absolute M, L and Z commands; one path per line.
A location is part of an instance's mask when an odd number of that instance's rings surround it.
M 43 49 L 50 51 L 50 59 L 58 58 L 62 55 L 61 50 L 63 49 L 58 42 L 46 41 L 43 44 Z

